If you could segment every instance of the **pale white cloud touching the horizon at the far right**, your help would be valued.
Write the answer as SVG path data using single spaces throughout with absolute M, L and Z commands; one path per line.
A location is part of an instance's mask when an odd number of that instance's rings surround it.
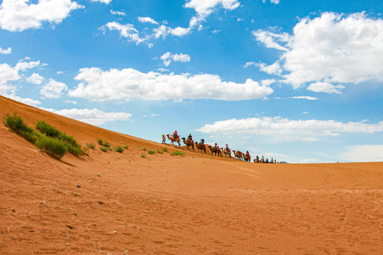
M 383 145 L 355 145 L 342 152 L 339 159 L 350 162 L 383 162 Z

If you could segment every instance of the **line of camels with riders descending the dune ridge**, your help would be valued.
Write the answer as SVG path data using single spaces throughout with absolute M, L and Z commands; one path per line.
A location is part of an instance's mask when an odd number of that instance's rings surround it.
M 206 147 L 209 148 L 211 152 L 211 156 L 217 156 L 231 159 L 231 149 L 229 149 L 228 145 L 226 144 L 226 147 L 218 147 L 217 144 L 214 146 L 211 145 L 205 145 L 204 138 L 201 139 L 200 142 L 194 142 L 193 137 L 191 137 L 191 134 L 186 137 L 179 137 L 177 134 L 177 130 L 170 136 L 170 134 L 166 135 L 167 139 L 170 140 L 170 145 L 174 145 L 174 142 L 177 142 L 178 146 L 181 147 L 181 140 L 184 142 L 184 144 L 187 146 L 187 149 L 189 151 L 195 152 L 194 146 L 197 149 L 197 152 L 201 152 L 206 154 Z M 162 135 L 162 144 L 166 145 L 166 138 L 165 135 Z M 244 162 L 251 162 L 251 156 L 248 151 L 246 152 L 240 152 L 239 150 L 233 149 L 233 156 L 234 159 L 243 160 Z M 265 159 L 265 157 L 262 156 L 262 158 L 258 157 L 258 155 L 255 157 L 255 159 L 252 160 L 254 163 L 267 163 L 267 164 L 277 164 L 276 159 Z

